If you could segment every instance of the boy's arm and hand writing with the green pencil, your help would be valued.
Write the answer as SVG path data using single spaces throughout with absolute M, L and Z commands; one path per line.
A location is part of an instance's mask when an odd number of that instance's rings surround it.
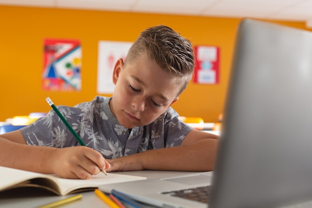
M 52 148 L 27 145 L 20 130 L 0 135 L 0 166 L 55 174 L 62 178 L 88 179 L 109 164 L 91 148 Z

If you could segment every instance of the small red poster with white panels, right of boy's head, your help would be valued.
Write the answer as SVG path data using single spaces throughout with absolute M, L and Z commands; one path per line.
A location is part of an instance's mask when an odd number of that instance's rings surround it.
M 219 83 L 219 51 L 215 46 L 194 46 L 194 83 Z

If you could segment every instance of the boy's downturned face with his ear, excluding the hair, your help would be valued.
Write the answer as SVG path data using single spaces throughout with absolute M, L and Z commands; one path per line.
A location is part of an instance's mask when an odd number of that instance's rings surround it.
M 113 72 L 111 111 L 126 128 L 150 124 L 178 100 L 175 79 L 145 57 L 125 66 L 119 59 Z

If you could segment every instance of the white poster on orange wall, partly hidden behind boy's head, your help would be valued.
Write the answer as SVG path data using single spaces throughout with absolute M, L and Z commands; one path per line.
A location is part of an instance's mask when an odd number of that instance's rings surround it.
M 99 41 L 97 93 L 112 94 L 115 85 L 112 81 L 113 70 L 119 58 L 125 60 L 133 42 Z

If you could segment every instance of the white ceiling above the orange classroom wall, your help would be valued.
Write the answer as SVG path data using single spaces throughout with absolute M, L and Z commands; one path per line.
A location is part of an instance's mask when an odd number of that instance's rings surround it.
M 0 0 L 0 5 L 305 21 L 312 0 Z

